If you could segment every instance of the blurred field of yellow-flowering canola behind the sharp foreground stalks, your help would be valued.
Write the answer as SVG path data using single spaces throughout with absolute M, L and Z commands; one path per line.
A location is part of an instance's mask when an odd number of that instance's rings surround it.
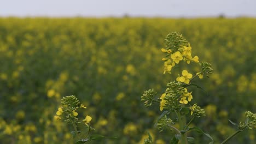
M 67 95 L 85 104 L 95 133 L 118 137 L 91 143 L 143 143 L 148 132 L 155 143 L 168 143 L 174 133 L 154 127 L 159 106 L 146 109 L 141 95 L 154 88 L 160 96 L 177 77 L 163 74 L 161 61 L 164 39 L 173 31 L 190 41 L 199 61 L 212 64 L 214 74 L 200 80 L 204 90 L 193 91 L 194 103 L 207 115 L 193 124 L 219 143 L 235 131 L 228 119 L 238 122 L 245 111 L 256 111 L 255 23 L 251 18 L 0 18 L 0 143 L 71 143 L 69 127 L 54 119 Z M 243 131 L 230 143 L 252 144 L 255 135 Z

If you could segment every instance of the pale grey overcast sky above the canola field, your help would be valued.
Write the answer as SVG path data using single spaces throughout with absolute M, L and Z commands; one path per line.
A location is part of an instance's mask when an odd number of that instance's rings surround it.
M 256 17 L 256 0 L 0 0 L 0 16 Z

